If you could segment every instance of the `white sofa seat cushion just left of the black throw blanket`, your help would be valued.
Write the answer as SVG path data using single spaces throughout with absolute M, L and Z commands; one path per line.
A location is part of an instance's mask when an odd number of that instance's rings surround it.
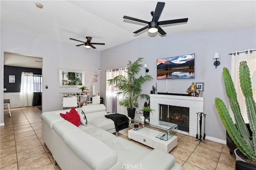
M 110 129 L 115 129 L 114 121 L 112 121 L 111 119 L 108 119 L 106 117 L 101 117 L 101 118 L 95 119 L 93 121 L 90 121 L 90 123 L 95 125 L 96 127 L 104 129 L 105 131 L 108 131 Z

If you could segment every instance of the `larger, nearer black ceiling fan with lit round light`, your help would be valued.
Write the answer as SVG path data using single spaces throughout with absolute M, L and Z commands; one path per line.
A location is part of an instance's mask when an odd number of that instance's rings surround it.
M 140 31 L 143 31 L 144 29 L 148 28 L 148 32 L 150 32 L 150 33 L 155 33 L 155 32 L 158 31 L 161 35 L 165 35 L 166 32 L 164 32 L 164 30 L 159 25 L 187 22 L 188 18 L 182 18 L 182 19 L 177 19 L 177 20 L 158 21 L 160 15 L 162 13 L 162 10 L 164 8 L 164 4 L 165 4 L 164 2 L 157 2 L 155 11 L 151 12 L 151 15 L 152 15 L 153 18 L 152 18 L 152 21 L 150 21 L 150 22 L 140 20 L 140 19 L 137 19 L 137 18 L 128 17 L 128 16 L 124 16 L 123 18 L 127 19 L 127 20 L 138 21 L 138 22 L 148 24 L 147 26 L 145 26 L 145 27 L 133 32 L 133 33 L 139 33 Z

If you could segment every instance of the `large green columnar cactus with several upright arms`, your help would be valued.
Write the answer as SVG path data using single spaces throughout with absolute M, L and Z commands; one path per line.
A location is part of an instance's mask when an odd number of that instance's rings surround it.
M 220 98 L 215 98 L 215 106 L 218 110 L 222 123 L 226 127 L 228 135 L 234 141 L 238 149 L 247 156 L 247 158 L 256 161 L 256 104 L 252 96 L 252 83 L 250 79 L 250 71 L 246 61 L 240 62 L 239 78 L 242 93 L 245 98 L 247 116 L 252 130 L 252 140 L 249 139 L 250 133 L 244 123 L 240 106 L 236 97 L 236 90 L 227 68 L 223 68 L 223 80 L 225 84 L 226 94 L 228 96 L 230 107 L 234 113 L 234 124 L 227 107 Z

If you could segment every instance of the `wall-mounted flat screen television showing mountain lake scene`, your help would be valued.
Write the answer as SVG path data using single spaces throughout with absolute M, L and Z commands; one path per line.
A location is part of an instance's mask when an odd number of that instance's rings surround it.
M 195 54 L 158 59 L 156 62 L 157 79 L 195 78 Z

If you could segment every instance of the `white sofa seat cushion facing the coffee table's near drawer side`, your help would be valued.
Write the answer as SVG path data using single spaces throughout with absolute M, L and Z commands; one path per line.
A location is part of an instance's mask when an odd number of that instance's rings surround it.
M 150 152 L 150 150 L 121 137 L 109 139 L 104 143 L 118 154 L 118 160 L 123 164 L 136 164 L 138 160 Z

